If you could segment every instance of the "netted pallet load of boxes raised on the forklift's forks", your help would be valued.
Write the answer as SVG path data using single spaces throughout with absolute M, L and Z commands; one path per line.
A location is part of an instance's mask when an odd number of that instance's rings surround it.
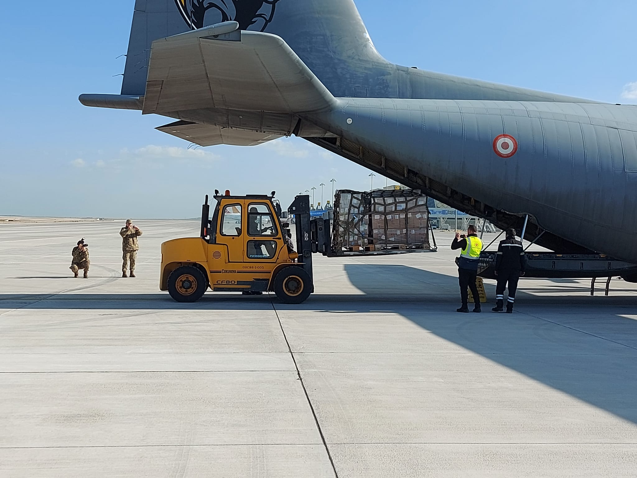
M 427 197 L 411 189 L 336 191 L 332 250 L 431 249 Z

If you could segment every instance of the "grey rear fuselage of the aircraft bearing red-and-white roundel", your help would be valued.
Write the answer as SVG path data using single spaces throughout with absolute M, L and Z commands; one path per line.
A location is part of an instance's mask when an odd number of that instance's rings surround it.
M 530 214 L 556 235 L 637 263 L 637 106 L 338 101 L 311 120 L 494 208 Z

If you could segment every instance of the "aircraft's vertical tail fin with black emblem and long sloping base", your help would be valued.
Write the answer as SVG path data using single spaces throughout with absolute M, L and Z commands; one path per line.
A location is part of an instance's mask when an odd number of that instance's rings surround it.
M 354 0 L 136 0 L 122 95 L 145 95 L 153 41 L 228 21 L 283 38 L 336 98 L 588 102 L 391 64 Z

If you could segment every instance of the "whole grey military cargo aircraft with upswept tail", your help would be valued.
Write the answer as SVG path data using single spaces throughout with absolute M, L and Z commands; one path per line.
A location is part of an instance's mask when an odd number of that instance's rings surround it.
M 637 106 L 391 64 L 353 0 L 137 0 L 122 94 L 80 101 L 203 146 L 296 134 L 499 228 L 528 214 L 548 249 L 637 263 Z

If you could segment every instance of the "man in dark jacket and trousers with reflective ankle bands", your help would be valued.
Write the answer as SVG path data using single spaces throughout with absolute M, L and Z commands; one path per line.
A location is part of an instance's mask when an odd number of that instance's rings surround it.
M 507 229 L 506 239 L 500 241 L 497 247 L 496 255 L 496 307 L 492 308 L 493 312 L 502 312 L 504 310 L 505 289 L 508 282 L 509 295 L 506 301 L 506 313 L 513 314 L 513 303 L 515 303 L 515 291 L 520 277 L 524 275 L 526 266 L 526 255 L 522 242 L 517 240 L 515 229 Z

